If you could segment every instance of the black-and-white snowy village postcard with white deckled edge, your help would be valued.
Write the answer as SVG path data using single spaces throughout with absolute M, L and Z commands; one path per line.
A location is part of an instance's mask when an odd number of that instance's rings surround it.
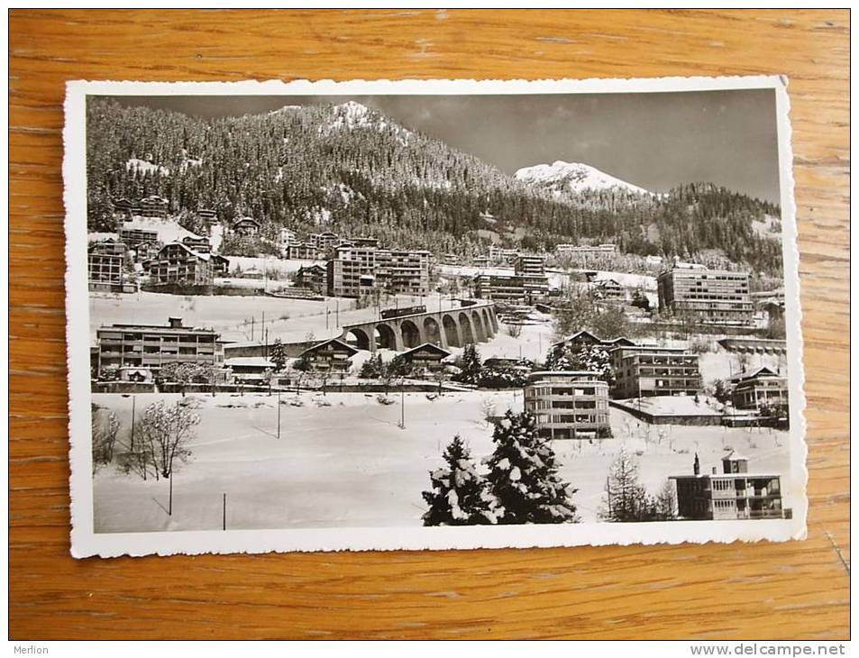
M 788 111 L 69 83 L 72 553 L 804 537 Z

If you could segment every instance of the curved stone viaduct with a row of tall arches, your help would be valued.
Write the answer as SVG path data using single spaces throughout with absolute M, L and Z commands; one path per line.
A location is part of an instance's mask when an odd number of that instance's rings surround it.
M 423 343 L 443 348 L 483 343 L 498 334 L 495 304 L 477 302 L 444 311 L 400 315 L 370 322 L 344 324 L 341 340 L 359 350 L 387 348 L 402 352 Z

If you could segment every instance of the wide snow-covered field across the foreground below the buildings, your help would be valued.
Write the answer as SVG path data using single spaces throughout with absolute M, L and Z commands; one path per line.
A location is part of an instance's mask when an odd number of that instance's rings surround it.
M 138 415 L 158 398 L 179 396 L 139 395 Z M 441 465 L 446 443 L 460 434 L 482 459 L 492 450 L 484 401 L 498 413 L 522 408 L 521 394 L 512 392 L 448 393 L 435 400 L 407 394 L 403 430 L 400 398 L 393 398 L 395 404 L 384 406 L 375 396 L 329 393 L 325 400 L 331 406 L 318 407 L 318 396 L 303 394 L 303 407 L 281 405 L 278 439 L 276 396 L 200 396 L 202 422 L 190 446 L 192 457 L 174 477 L 173 515 L 166 512 L 167 482 L 144 482 L 109 466 L 94 480 L 96 532 L 216 530 L 224 493 L 232 529 L 420 525 L 421 492 L 429 487 L 428 471 Z M 93 401 L 119 416 L 124 442 L 131 398 L 96 394 Z M 651 492 L 668 475 L 690 472 L 695 452 L 702 469 L 709 470 L 733 448 L 749 458 L 750 470 L 784 475 L 785 506 L 797 503 L 800 492 L 786 477 L 786 433 L 651 427 L 617 409 L 611 410 L 611 423 L 617 438 L 554 442 L 562 475 L 579 489 L 574 500 L 584 521 L 598 520 L 608 466 L 622 444 L 640 453 L 641 480 Z

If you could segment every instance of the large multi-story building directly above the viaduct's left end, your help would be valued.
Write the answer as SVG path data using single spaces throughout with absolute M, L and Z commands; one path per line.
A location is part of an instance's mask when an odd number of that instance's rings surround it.
M 328 261 L 328 294 L 361 297 L 371 288 L 389 293 L 429 292 L 429 251 L 402 251 L 341 245 Z

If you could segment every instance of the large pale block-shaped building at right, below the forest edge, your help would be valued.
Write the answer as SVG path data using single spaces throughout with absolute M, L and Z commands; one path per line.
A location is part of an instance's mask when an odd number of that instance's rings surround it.
M 673 315 L 693 315 L 713 324 L 749 324 L 754 308 L 749 273 L 708 270 L 677 263 L 656 279 L 659 308 Z

